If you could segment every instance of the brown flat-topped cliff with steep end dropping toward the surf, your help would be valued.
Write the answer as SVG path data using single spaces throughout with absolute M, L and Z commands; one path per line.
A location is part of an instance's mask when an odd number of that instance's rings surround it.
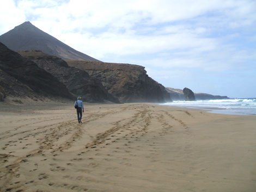
M 101 81 L 108 92 L 120 102 L 171 101 L 164 87 L 147 75 L 143 66 L 102 63 L 95 61 L 67 61 L 69 66 L 87 71 Z

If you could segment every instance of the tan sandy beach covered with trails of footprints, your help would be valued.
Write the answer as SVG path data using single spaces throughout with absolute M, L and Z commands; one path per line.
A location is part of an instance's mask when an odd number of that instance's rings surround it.
M 256 191 L 256 116 L 0 104 L 0 191 Z

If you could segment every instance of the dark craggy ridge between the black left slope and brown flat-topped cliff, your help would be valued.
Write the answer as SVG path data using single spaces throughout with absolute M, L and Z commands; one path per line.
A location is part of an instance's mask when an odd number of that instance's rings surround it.
M 83 101 L 102 103 L 111 101 L 119 103 L 99 80 L 90 77 L 86 71 L 70 67 L 66 61 L 41 51 L 20 51 L 22 57 L 33 60 L 41 69 L 51 73 L 59 79 L 68 90 L 75 96 L 81 96 Z

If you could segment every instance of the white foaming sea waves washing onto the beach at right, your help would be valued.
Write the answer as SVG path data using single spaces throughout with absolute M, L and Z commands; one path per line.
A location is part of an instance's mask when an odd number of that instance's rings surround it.
M 231 115 L 256 115 L 256 98 L 232 98 L 227 100 L 173 101 L 166 106 L 205 109 L 211 113 Z

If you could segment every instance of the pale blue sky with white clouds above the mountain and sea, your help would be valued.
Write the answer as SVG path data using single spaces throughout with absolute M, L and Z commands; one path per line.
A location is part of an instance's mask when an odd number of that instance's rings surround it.
M 255 0 L 0 0 L 0 35 L 25 21 L 166 87 L 256 97 Z

